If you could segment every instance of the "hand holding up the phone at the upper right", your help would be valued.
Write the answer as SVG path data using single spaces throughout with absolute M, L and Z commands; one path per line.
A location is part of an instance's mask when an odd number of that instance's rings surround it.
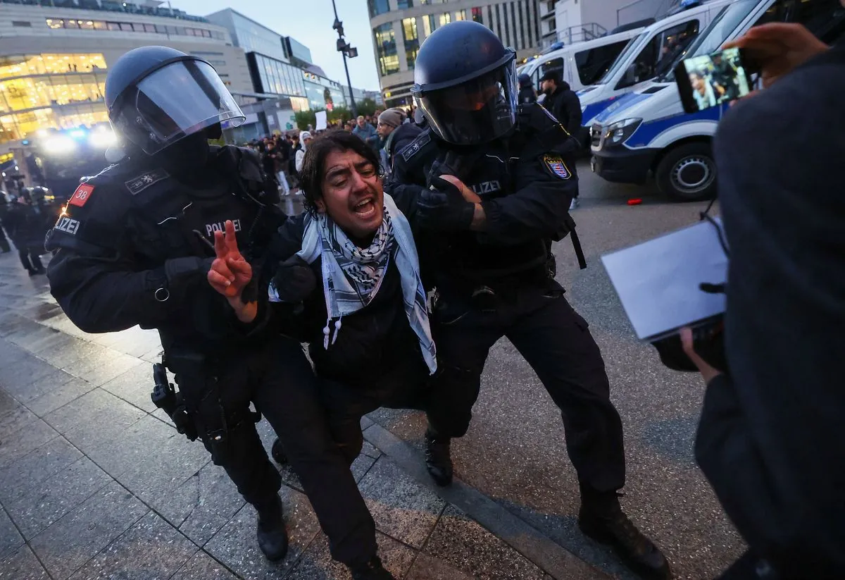
M 760 63 L 763 86 L 768 87 L 828 47 L 803 25 L 772 23 L 754 26 L 722 49 L 739 47 Z

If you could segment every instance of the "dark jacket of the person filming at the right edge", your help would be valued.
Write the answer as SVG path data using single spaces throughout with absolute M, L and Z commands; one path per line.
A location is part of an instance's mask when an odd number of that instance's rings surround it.
M 845 577 L 845 49 L 732 107 L 714 151 L 730 246 L 730 375 L 695 456 L 785 578 Z

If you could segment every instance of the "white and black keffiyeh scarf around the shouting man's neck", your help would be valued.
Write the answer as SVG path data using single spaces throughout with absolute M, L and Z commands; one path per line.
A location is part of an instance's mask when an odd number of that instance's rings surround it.
M 405 314 L 417 335 L 420 350 L 431 374 L 437 370 L 437 353 L 428 324 L 428 306 L 420 278 L 419 257 L 411 225 L 384 194 L 384 221 L 368 248 L 358 248 L 324 213 L 305 218 L 303 248 L 297 255 L 312 264 L 323 259 L 323 293 L 328 320 L 323 329 L 323 346 L 334 344 L 341 331 L 343 317 L 363 309 L 379 292 L 391 258 L 401 276 Z M 270 300 L 278 301 L 270 287 Z

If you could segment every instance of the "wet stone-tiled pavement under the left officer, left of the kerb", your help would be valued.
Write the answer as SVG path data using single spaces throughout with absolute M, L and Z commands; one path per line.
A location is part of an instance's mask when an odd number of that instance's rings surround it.
M 150 402 L 160 348 L 154 331 L 79 331 L 44 276 L 0 254 L 0 580 L 348 580 L 285 466 L 291 548 L 280 563 L 264 559 L 252 506 Z M 368 441 L 352 465 L 395 577 L 607 577 L 559 548 L 558 560 L 532 561 L 532 541 L 516 538 L 542 533 L 500 507 L 479 512 L 485 527 L 461 509 L 476 509 L 472 492 L 453 491 L 460 506 L 444 499 L 401 467 L 422 464 L 416 451 L 367 418 L 362 426 L 401 460 Z M 266 421 L 259 433 L 269 451 Z M 510 532 L 498 537 L 490 528 L 503 517 Z

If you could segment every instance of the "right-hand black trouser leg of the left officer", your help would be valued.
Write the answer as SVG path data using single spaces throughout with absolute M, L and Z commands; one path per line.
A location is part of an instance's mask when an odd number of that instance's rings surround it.
M 311 364 L 298 342 L 282 338 L 268 348 L 272 356 L 264 361 L 255 405 L 281 440 L 332 557 L 347 566 L 363 564 L 376 555 L 375 523 L 335 445 Z

